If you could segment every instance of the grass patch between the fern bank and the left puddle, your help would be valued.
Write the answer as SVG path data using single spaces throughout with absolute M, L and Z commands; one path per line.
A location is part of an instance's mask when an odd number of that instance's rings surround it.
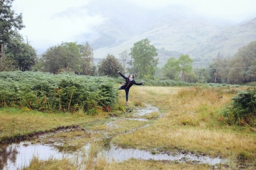
M 39 111 L 25 111 L 16 108 L 0 109 L 0 142 L 19 141 L 32 134 L 55 130 L 59 127 L 79 125 L 89 127 L 101 124 L 106 118 L 85 114 L 58 112 L 48 114 Z

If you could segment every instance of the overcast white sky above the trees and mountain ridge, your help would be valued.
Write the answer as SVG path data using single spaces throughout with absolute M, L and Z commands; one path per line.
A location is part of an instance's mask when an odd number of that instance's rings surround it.
M 100 0 L 94 0 L 100 1 Z M 105 0 L 107 1 L 107 0 Z M 119 0 L 154 9 L 180 4 L 205 16 L 234 22 L 256 17 L 255 0 Z M 31 45 L 42 53 L 61 42 L 79 42 L 79 35 L 92 33 L 104 18 L 99 13 L 88 14 L 85 8 L 90 0 L 14 0 L 13 9 L 22 13 L 26 28 L 20 33 L 27 36 Z M 72 12 L 76 10 L 76 12 Z M 85 22 L 86 21 L 86 22 Z

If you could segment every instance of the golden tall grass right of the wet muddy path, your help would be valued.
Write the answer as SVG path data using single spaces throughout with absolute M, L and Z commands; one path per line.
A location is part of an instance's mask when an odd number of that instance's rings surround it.
M 222 110 L 238 90 L 246 87 L 145 87 L 133 88 L 135 101 L 159 107 L 165 116 L 132 134 L 114 137 L 122 147 L 187 150 L 253 162 L 256 135 L 250 128 L 230 126 Z M 254 162 L 255 164 L 255 162 Z

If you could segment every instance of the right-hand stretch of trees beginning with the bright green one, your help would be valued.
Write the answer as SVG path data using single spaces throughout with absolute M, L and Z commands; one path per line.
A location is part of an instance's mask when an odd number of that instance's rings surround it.
M 163 77 L 185 82 L 245 84 L 256 82 L 256 41 L 239 48 L 234 56 L 216 58 L 205 68 L 192 68 L 188 55 L 169 58 Z

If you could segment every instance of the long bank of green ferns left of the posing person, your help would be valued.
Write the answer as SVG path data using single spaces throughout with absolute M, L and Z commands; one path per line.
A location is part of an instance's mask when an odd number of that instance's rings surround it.
M 0 72 L 0 107 L 77 111 L 112 107 L 118 92 L 114 80 L 42 72 Z

